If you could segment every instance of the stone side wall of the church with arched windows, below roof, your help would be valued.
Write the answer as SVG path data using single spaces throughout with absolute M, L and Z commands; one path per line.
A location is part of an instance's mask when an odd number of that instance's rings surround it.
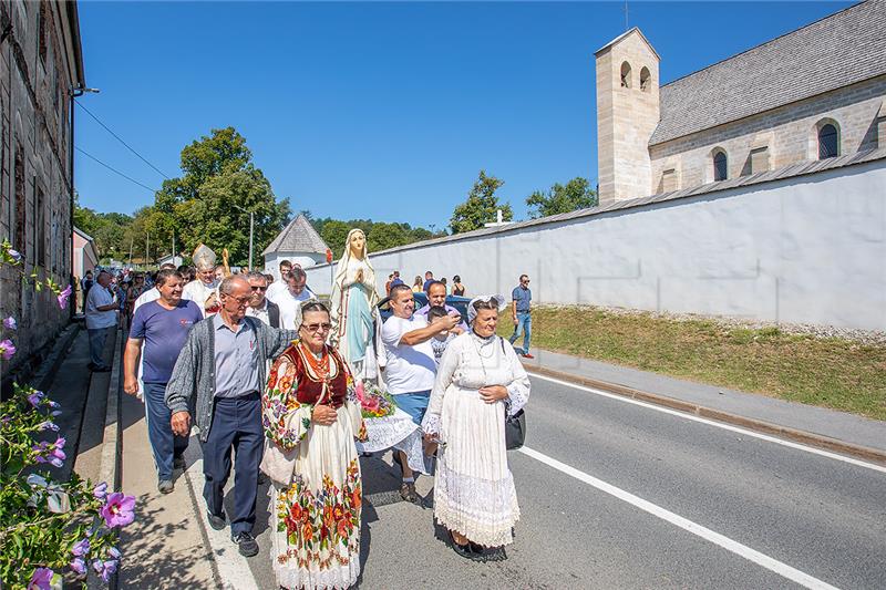
M 718 149 L 727 154 L 728 178 L 817 159 L 822 122 L 836 124 L 841 155 L 883 147 L 877 145 L 877 113 L 884 101 L 886 76 L 879 76 L 651 146 L 652 186 L 648 194 L 713 182 Z M 674 182 L 666 170 L 674 170 Z

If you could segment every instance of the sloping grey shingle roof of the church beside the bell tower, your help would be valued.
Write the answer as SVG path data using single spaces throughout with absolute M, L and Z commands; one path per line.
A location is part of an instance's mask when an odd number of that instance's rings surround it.
M 868 0 L 661 86 L 649 145 L 883 74 L 886 1 Z

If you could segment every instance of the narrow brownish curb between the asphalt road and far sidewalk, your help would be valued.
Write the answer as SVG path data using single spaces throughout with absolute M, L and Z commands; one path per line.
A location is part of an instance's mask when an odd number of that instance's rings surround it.
M 527 364 L 524 364 L 523 366 L 528 373 L 559 379 L 562 381 L 576 383 L 586 387 L 602 390 L 607 393 L 614 393 L 631 400 L 661 405 L 679 412 L 686 412 L 687 414 L 693 414 L 696 416 L 724 422 L 727 424 L 732 424 L 733 426 L 741 426 L 743 428 L 748 428 L 749 431 L 770 434 L 793 441 L 795 443 L 802 443 L 804 445 L 823 448 L 833 453 L 841 453 L 855 458 L 886 465 L 886 451 L 855 445 L 844 441 L 838 441 L 836 438 L 831 438 L 830 436 L 790 428 L 787 426 L 781 426 L 779 424 L 773 424 L 762 420 L 749 418 L 746 416 L 732 414 L 730 412 L 723 412 L 722 410 L 714 410 L 703 405 L 693 404 L 691 402 L 676 400 L 673 397 L 668 397 L 667 395 L 659 395 L 656 393 L 635 390 L 617 383 L 609 383 L 591 377 L 574 375 L 571 373 L 564 373 L 562 371 L 554 371 L 553 369 L 545 369 L 544 366 L 533 366 Z

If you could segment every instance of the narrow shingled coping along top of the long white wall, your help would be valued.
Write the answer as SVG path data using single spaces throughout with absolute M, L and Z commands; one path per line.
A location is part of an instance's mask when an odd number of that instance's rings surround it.
M 741 186 L 749 186 L 749 185 L 759 185 L 762 183 L 770 183 L 773 180 L 783 180 L 786 178 L 794 178 L 797 176 L 805 176 L 807 174 L 814 174 L 818 172 L 825 170 L 833 170 L 837 168 L 844 168 L 847 166 L 855 166 L 858 164 L 866 164 L 868 162 L 876 162 L 880 159 L 886 159 L 886 147 L 880 147 L 877 149 L 868 149 L 866 152 L 856 152 L 854 154 L 848 154 L 845 156 L 838 156 L 834 158 L 827 159 L 815 159 L 815 161 L 805 161 L 799 162 L 796 164 L 792 164 L 790 166 L 785 166 L 783 168 L 779 168 L 775 170 L 766 170 L 761 172 L 758 174 L 749 174 L 748 176 L 739 176 L 736 178 L 730 178 L 728 180 L 720 180 L 717 183 L 708 183 L 707 185 L 693 186 L 690 188 L 682 188 L 680 190 L 674 190 L 671 193 L 661 193 L 658 195 L 650 195 L 647 197 L 640 197 L 636 199 L 629 200 L 620 200 L 617 203 L 611 203 L 609 205 L 605 205 L 601 207 L 591 207 L 589 209 L 579 209 L 577 211 L 570 213 L 563 213 L 558 215 L 552 215 L 549 217 L 542 217 L 539 219 L 529 219 L 528 221 L 521 221 L 517 224 L 509 224 L 507 226 L 502 227 L 490 227 L 484 229 L 476 229 L 474 231 L 467 231 L 465 234 L 456 234 L 454 236 L 446 236 L 443 238 L 434 238 L 430 240 L 419 241 L 414 244 L 409 244 L 406 246 L 399 246 L 396 248 L 389 248 L 387 250 L 382 250 L 379 252 L 371 252 L 372 256 L 379 256 L 382 253 L 391 253 L 398 251 L 405 251 L 405 250 L 413 250 L 415 248 L 427 248 L 432 246 L 437 246 L 440 244 L 445 244 L 449 241 L 460 241 L 473 238 L 480 238 L 484 236 L 490 236 L 492 234 L 504 234 L 507 231 L 515 231 L 518 229 L 524 229 L 527 227 L 536 227 L 536 226 L 544 226 L 548 224 L 556 224 L 559 221 L 570 221 L 573 219 L 584 219 L 586 217 L 594 217 L 595 215 L 602 215 L 610 211 L 618 211 L 624 209 L 632 209 L 635 207 L 642 207 L 645 205 L 651 205 L 656 203 L 669 201 L 669 200 L 678 200 L 681 198 L 687 197 L 696 197 L 699 195 L 707 195 L 711 193 L 719 193 L 721 190 L 727 190 L 730 188 L 736 188 Z M 324 265 L 319 265 L 324 266 Z M 312 267 L 317 268 L 317 267 Z

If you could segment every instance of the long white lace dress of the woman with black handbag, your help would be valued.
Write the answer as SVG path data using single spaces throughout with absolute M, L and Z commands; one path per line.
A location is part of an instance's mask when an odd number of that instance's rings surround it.
M 478 390 L 504 385 L 508 397 L 485 403 Z M 450 530 L 486 546 L 513 541 L 519 520 L 514 477 L 507 467 L 505 414 L 529 398 L 529 377 L 514 349 L 497 335 L 467 332 L 453 340 L 436 374 L 422 429 L 436 434 L 434 517 Z

